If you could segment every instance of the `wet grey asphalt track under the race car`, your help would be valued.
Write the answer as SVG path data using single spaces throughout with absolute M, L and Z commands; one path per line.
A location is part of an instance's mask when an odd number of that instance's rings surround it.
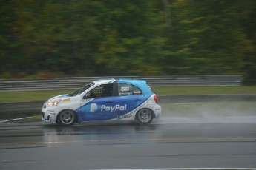
M 253 119 L 253 118 L 252 118 Z M 256 167 L 256 121 L 0 123 L 0 169 Z

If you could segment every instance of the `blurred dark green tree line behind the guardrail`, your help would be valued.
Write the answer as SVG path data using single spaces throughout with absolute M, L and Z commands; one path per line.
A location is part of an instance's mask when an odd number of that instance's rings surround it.
M 256 1 L 1 0 L 1 78 L 243 75 Z

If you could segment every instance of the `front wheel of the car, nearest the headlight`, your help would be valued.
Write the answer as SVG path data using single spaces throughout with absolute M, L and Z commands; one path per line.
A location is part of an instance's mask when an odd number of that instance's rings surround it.
M 62 110 L 58 115 L 58 122 L 63 126 L 72 126 L 76 123 L 76 120 L 76 112 L 73 112 L 73 110 L 70 109 Z

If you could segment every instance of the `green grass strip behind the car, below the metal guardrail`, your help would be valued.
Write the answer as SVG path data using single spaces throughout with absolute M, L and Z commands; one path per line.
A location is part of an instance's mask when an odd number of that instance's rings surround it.
M 170 86 L 153 87 L 157 95 L 205 95 L 205 94 L 252 94 L 256 86 Z M 67 94 L 73 90 L 50 90 L 30 92 L 0 92 L 0 103 L 22 101 L 46 101 L 56 95 Z

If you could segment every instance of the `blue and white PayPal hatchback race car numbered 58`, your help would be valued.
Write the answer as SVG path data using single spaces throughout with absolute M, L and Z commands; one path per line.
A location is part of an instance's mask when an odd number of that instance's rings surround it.
M 43 121 L 65 126 L 95 120 L 148 124 L 160 115 L 157 95 L 142 80 L 93 81 L 72 94 L 50 98 L 42 107 Z

